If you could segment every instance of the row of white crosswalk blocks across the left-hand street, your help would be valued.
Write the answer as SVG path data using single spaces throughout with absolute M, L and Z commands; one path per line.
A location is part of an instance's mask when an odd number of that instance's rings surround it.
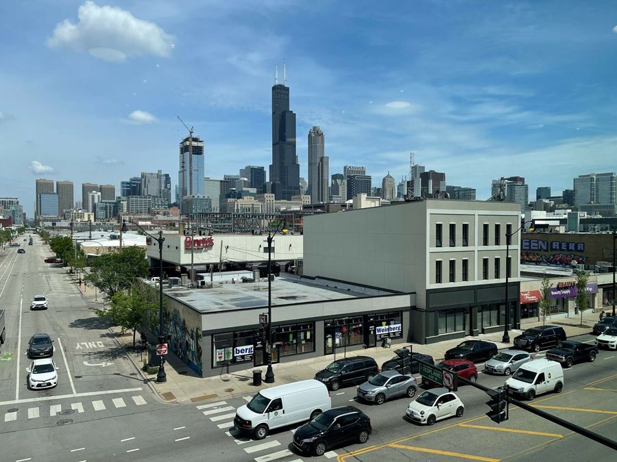
M 71 402 L 70 405 L 40 405 L 38 407 L 24 407 L 23 409 L 8 409 L 4 413 L 4 422 L 13 422 L 18 418 L 27 418 L 34 420 L 45 417 L 58 417 L 63 411 L 73 411 L 73 413 L 82 414 L 86 411 L 105 411 L 106 409 L 122 409 L 128 406 L 143 406 L 147 402 L 141 395 L 131 396 L 128 398 L 112 398 L 111 401 L 93 400 L 90 402 Z

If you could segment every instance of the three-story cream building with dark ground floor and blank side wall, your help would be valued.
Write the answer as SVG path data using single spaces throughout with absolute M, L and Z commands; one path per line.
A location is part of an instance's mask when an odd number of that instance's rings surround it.
M 432 200 L 307 217 L 304 276 L 415 293 L 407 340 L 520 324 L 520 227 L 512 203 Z

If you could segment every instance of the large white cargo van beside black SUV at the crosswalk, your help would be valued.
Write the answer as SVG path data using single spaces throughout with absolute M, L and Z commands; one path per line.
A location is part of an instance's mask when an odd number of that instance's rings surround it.
M 313 419 L 331 407 L 328 387 L 311 378 L 261 390 L 237 409 L 234 426 L 263 439 L 273 428 Z

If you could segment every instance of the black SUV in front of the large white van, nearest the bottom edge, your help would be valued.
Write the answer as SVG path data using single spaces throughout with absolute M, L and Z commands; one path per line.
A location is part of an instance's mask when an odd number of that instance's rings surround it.
M 322 456 L 335 446 L 366 443 L 372 433 L 370 418 L 353 406 L 335 407 L 317 415 L 293 433 L 293 446 L 301 452 Z

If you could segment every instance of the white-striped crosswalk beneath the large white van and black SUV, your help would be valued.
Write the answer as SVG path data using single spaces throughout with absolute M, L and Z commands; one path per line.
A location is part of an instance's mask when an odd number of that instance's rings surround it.
M 252 398 L 252 396 L 242 397 L 246 402 L 249 402 Z M 240 446 L 246 454 L 250 454 L 254 462 L 304 462 L 304 459 L 298 458 L 298 454 L 288 449 L 291 438 L 287 438 L 289 435 L 287 431 L 275 431 L 274 435 L 267 435 L 265 439 L 260 440 L 239 433 L 234 428 L 236 408 L 227 401 L 208 402 L 204 405 L 197 405 L 195 408 L 202 411 L 204 417 L 213 422 L 217 428 L 224 430 L 225 435 L 230 437 L 237 446 Z M 293 435 L 295 428 L 289 432 Z M 338 453 L 335 451 L 328 451 L 324 454 L 324 457 L 333 459 L 337 455 Z M 314 459 L 314 457 L 311 458 L 311 460 Z

